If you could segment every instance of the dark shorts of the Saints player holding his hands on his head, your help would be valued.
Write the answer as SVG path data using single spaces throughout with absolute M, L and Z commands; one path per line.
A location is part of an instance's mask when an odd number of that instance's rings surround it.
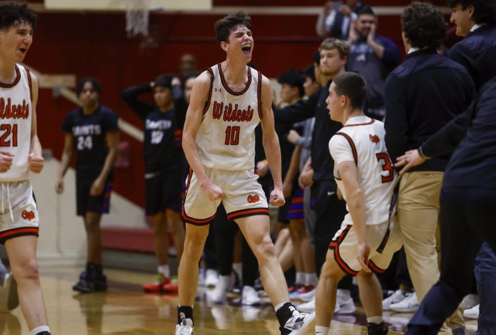
M 182 187 L 186 175 L 182 172 L 157 172 L 145 176 L 146 215 L 156 215 L 166 209 L 181 213 Z

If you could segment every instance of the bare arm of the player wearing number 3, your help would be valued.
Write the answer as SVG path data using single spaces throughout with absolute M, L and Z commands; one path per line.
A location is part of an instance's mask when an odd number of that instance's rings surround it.
M 353 219 L 353 226 L 357 234 L 357 259 L 366 272 L 371 272 L 367 266 L 369 263 L 370 248 L 367 243 L 367 213 L 365 209 L 365 197 L 359 182 L 358 169 L 353 161 L 345 161 L 338 165 L 344 191 L 346 203 Z

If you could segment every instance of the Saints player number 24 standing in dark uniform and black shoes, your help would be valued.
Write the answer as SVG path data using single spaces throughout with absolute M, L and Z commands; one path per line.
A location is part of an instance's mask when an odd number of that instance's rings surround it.
M 64 148 L 55 191 L 63 193 L 63 176 L 75 153 L 77 215 L 83 217 L 88 255 L 86 270 L 81 272 L 72 289 L 79 292 L 105 291 L 107 277 L 102 270 L 100 219 L 110 207 L 113 166 L 119 144 L 117 114 L 100 105 L 102 86 L 96 79 L 82 79 L 76 91 L 82 106 L 69 112 L 62 123 Z

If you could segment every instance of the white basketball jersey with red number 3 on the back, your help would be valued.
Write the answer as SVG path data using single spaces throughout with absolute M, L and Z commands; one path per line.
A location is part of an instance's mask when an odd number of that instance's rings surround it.
M 387 153 L 384 135 L 382 122 L 358 116 L 349 119 L 329 141 L 329 151 L 334 159 L 334 179 L 345 199 L 339 163 L 354 161 L 357 165 L 368 225 L 387 222 L 397 177 Z M 353 224 L 350 213 L 346 214 L 344 222 Z

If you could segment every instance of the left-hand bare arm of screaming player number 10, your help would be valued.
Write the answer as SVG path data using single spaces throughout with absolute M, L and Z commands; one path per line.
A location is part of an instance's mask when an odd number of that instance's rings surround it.
M 208 71 L 201 73 L 193 83 L 191 90 L 191 100 L 186 112 L 185 127 L 183 130 L 183 150 L 191 169 L 193 169 L 202 191 L 210 200 L 221 199 L 224 191 L 217 185 L 213 184 L 208 178 L 203 163 L 201 162 L 198 148 L 196 147 L 195 137 L 201 125 L 203 109 L 210 94 L 212 79 Z

